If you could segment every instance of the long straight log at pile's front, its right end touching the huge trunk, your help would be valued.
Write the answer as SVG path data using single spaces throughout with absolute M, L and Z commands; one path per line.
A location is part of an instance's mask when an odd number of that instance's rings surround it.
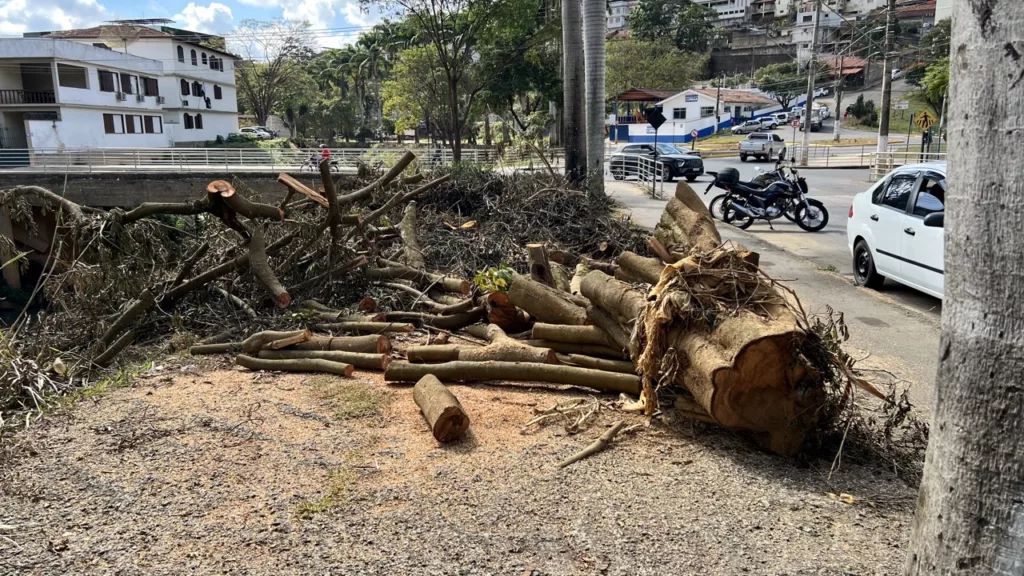
M 388 382 L 415 382 L 433 374 L 447 382 L 519 381 L 583 386 L 607 393 L 640 394 L 640 377 L 575 366 L 530 362 L 445 362 L 410 364 L 392 362 L 384 371 Z

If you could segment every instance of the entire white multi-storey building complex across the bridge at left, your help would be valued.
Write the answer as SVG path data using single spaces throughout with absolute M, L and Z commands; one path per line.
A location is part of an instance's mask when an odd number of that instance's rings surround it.
M 226 136 L 238 131 L 233 63 L 152 29 L 126 41 L 97 29 L 0 39 L 0 148 L 166 148 Z

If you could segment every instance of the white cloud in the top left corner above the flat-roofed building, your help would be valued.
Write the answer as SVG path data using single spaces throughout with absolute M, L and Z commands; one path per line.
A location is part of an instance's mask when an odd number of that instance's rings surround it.
M 88 28 L 111 19 L 96 0 L 0 0 L 0 34 Z

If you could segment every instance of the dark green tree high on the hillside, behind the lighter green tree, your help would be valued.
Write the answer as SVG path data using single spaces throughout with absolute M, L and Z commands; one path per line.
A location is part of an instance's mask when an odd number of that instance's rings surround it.
M 707 52 L 718 36 L 718 12 L 691 0 L 640 0 L 629 20 L 635 38 L 668 38 L 684 52 Z

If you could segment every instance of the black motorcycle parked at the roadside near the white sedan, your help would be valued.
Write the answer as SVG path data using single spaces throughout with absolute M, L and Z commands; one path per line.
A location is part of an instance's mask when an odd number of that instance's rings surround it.
M 807 197 L 807 180 L 793 167 L 783 166 L 784 154 L 783 149 L 774 172 L 762 179 L 774 180 L 766 186 L 739 181 L 739 173 L 734 168 L 730 168 L 727 175 L 723 175 L 725 170 L 709 172 L 715 179 L 708 184 L 705 194 L 715 187 L 726 191 L 712 200 L 712 214 L 740 230 L 750 228 L 756 219 L 766 220 L 771 228 L 772 220 L 780 217 L 797 222 L 807 232 L 824 229 L 828 224 L 828 210 L 821 202 Z

